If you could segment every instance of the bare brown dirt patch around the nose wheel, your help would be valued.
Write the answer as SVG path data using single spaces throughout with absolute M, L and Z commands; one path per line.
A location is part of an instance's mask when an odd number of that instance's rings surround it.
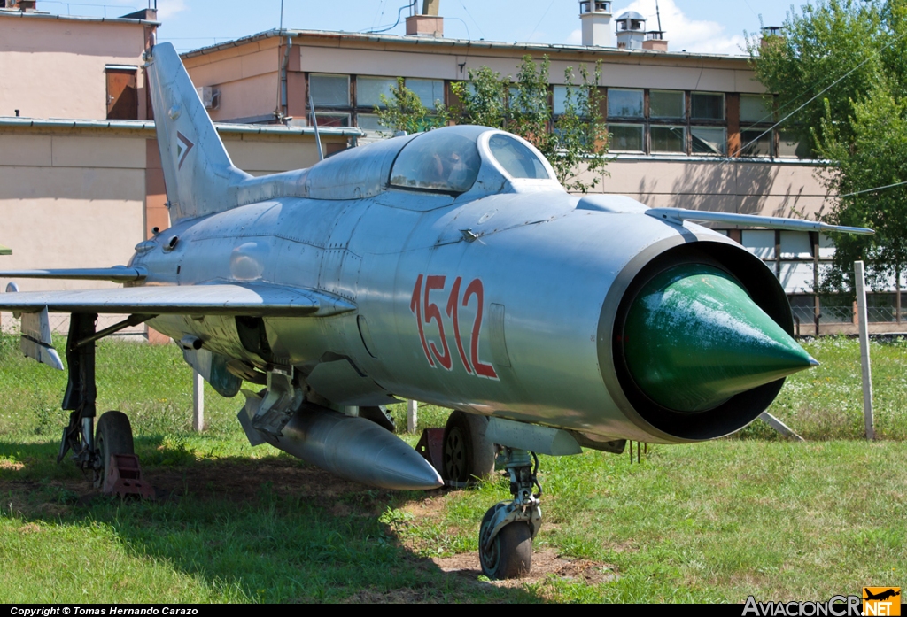
M 434 557 L 432 561 L 449 574 L 460 574 L 473 580 L 482 574 L 482 564 L 479 563 L 477 553 Z M 589 584 L 608 583 L 618 577 L 616 566 L 598 564 L 588 559 L 573 559 L 545 549 L 532 553 L 532 570 L 526 578 L 492 581 L 492 584 L 499 587 L 522 587 L 525 583 L 543 582 L 552 575 L 563 580 Z

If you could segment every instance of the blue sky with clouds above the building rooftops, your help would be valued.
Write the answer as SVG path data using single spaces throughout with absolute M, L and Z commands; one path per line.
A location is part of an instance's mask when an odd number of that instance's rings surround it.
M 52 13 L 116 16 L 149 0 L 85 0 L 83 4 L 38 0 Z M 153 3 L 154 0 L 151 0 Z M 187 51 L 278 27 L 280 0 L 157 0 L 159 40 Z M 106 4 L 106 6 L 104 6 Z M 284 0 L 285 27 L 366 31 L 394 24 L 406 0 Z M 805 4 L 796 3 L 797 6 Z M 421 0 L 420 0 L 421 5 Z M 614 14 L 632 9 L 656 29 L 655 0 L 614 0 Z M 762 23 L 780 25 L 790 0 L 658 0 L 661 26 L 671 50 L 743 53 L 744 33 Z M 407 14 L 404 11 L 404 14 Z M 441 0 L 444 33 L 458 38 L 536 43 L 579 43 L 577 0 Z M 388 31 L 403 34 L 403 24 Z

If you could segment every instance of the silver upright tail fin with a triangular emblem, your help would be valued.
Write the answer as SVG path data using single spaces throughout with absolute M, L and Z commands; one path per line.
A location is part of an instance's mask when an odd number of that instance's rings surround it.
M 233 166 L 171 43 L 154 45 L 147 72 L 171 218 L 236 207 L 229 187 L 251 176 Z

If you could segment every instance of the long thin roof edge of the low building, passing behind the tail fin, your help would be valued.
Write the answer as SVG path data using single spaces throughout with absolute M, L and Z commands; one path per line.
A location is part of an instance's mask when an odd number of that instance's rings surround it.
M 0 116 L 0 128 L 3 127 L 36 127 L 36 128 L 62 128 L 62 129 L 131 129 L 154 130 L 152 120 L 64 120 L 51 118 L 49 120 L 37 118 L 14 118 Z M 231 122 L 215 122 L 214 128 L 219 133 L 259 133 L 272 135 L 315 135 L 315 128 L 309 126 L 284 126 L 283 124 L 234 124 Z M 366 133 L 361 129 L 352 127 L 318 127 L 321 135 L 335 137 L 363 137 Z

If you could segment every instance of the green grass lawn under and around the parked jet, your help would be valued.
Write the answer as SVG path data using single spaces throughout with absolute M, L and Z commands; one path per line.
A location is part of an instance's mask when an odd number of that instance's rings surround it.
M 175 346 L 98 349 L 99 410 L 130 415 L 157 502 L 99 496 L 54 464 L 65 374 L 0 337 L 0 597 L 5 602 L 741 602 L 827 600 L 907 583 L 903 343 L 873 343 L 876 431 L 862 439 L 857 343 L 807 343 L 773 414 L 729 439 L 542 458 L 544 525 L 529 580 L 488 583 L 478 524 L 502 480 L 395 492 L 250 448 L 239 400 L 206 391 L 190 431 Z M 398 425 L 405 411 L 395 410 Z M 445 410 L 420 409 L 421 426 Z M 417 436 L 404 435 L 414 443 Z

